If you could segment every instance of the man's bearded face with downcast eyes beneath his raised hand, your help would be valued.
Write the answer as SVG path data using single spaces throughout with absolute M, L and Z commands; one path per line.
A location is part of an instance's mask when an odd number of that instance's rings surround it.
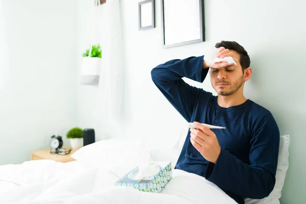
M 227 96 L 236 93 L 244 82 L 244 73 L 240 65 L 240 55 L 234 50 L 233 58 L 238 60 L 237 65 L 232 64 L 222 68 L 210 68 L 211 83 L 219 95 Z

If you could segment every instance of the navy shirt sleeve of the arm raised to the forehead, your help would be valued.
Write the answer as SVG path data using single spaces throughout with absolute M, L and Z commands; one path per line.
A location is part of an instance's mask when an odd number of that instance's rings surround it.
M 151 70 L 151 78 L 171 105 L 190 122 L 200 94 L 209 94 L 187 84 L 182 78 L 202 83 L 209 69 L 202 69 L 204 56 L 175 59 Z

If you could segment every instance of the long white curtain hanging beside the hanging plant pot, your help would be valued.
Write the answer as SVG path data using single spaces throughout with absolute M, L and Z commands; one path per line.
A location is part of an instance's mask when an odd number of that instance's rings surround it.
M 123 52 L 119 0 L 100 5 L 102 66 L 94 114 L 118 120 L 123 110 Z

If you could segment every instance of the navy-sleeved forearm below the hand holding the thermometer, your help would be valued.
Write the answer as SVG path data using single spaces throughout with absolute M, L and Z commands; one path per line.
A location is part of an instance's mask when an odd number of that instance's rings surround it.
M 226 191 L 253 199 L 267 197 L 275 185 L 271 172 L 250 167 L 225 149 L 221 149 L 216 165 L 209 163 L 205 177 Z

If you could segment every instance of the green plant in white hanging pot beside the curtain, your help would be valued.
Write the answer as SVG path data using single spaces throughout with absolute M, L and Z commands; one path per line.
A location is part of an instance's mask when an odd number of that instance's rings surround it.
M 99 44 L 92 45 L 82 55 L 81 84 L 94 85 L 99 82 L 102 51 Z

